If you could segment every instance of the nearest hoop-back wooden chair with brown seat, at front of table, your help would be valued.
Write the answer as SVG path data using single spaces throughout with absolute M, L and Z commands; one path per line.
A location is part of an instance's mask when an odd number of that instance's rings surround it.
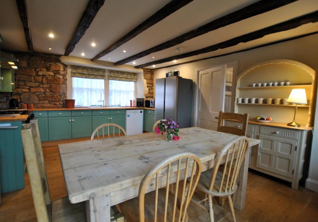
M 181 165 L 183 168 L 185 165 L 183 170 Z M 119 204 L 125 219 L 128 222 L 187 221 L 187 207 L 200 174 L 201 161 L 190 152 L 174 154 L 160 161 L 143 177 L 138 198 Z M 188 176 L 189 183 L 186 183 Z M 183 180 L 180 188 L 179 180 Z M 174 194 L 169 190 L 171 182 L 176 182 Z

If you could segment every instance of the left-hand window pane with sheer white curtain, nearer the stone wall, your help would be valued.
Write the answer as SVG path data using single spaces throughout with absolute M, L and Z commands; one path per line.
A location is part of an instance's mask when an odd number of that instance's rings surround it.
M 104 80 L 73 77 L 73 99 L 76 106 L 101 105 L 104 100 Z

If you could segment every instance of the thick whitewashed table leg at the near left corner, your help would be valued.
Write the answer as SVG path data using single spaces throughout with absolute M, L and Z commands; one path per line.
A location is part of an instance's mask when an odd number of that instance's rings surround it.
M 110 222 L 110 195 L 86 200 L 86 218 L 88 222 Z

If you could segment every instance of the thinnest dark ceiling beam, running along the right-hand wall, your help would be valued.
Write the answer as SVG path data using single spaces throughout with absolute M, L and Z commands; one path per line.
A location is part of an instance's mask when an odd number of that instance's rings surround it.
M 300 39 L 300 38 L 303 38 L 303 37 L 306 37 L 306 36 L 309 36 L 309 35 L 315 35 L 315 34 L 318 34 L 318 31 L 317 31 L 317 32 L 310 32 L 310 33 L 308 33 L 308 34 L 299 35 L 299 36 L 295 36 L 295 37 L 288 38 L 288 39 L 282 39 L 282 40 L 279 40 L 279 41 L 266 43 L 266 44 L 259 45 L 259 46 L 254 46 L 254 47 L 247 48 L 247 49 L 242 49 L 242 50 L 235 51 L 235 52 L 230 52 L 230 53 L 225 53 L 225 54 L 221 54 L 221 55 L 214 55 L 214 56 L 210 56 L 210 57 L 206 57 L 206 58 L 202 58 L 202 59 L 196 59 L 196 60 L 191 60 L 191 61 L 176 63 L 176 64 L 173 64 L 173 65 L 170 65 L 170 66 L 163 66 L 163 67 L 159 67 L 159 68 L 154 68 L 154 70 L 156 70 L 156 69 L 162 69 L 162 68 L 169 68 L 169 67 L 173 67 L 173 66 L 179 66 L 179 65 L 183 65 L 183 64 L 188 64 L 188 63 L 192 63 L 192 62 L 197 62 L 197 61 L 206 60 L 206 59 L 218 58 L 218 57 L 222 57 L 222 56 L 226 56 L 226 55 L 231 55 L 231 54 L 235 54 L 235 53 L 246 52 L 246 51 L 250 51 L 250 50 L 252 50 L 252 49 L 257 49 L 257 48 L 261 48 L 261 47 L 265 47 L 265 46 L 271 46 L 271 45 L 275 45 L 275 44 L 278 44 L 278 43 L 281 43 L 281 42 L 287 42 L 287 41 L 291 41 L 291 40 L 294 40 L 294 39 Z

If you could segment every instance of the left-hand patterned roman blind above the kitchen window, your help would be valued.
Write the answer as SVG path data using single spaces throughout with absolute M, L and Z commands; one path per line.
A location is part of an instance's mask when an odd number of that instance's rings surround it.
M 71 66 L 71 76 L 88 79 L 105 79 L 106 70 L 100 68 Z

